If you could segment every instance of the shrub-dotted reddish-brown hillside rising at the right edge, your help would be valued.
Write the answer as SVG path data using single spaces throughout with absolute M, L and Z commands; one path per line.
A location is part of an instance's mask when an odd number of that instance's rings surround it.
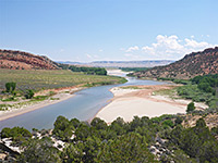
M 165 66 L 133 73 L 137 77 L 192 78 L 197 75 L 218 74 L 218 47 L 186 54 L 182 60 Z

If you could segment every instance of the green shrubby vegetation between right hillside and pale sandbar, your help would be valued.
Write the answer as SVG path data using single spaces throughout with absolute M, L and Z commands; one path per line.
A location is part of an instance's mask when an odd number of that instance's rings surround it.
M 159 77 L 158 79 L 171 80 L 175 84 L 183 84 L 184 86 L 170 90 L 159 90 L 155 93 L 168 95 L 169 97 L 174 99 L 183 98 L 195 102 L 205 102 L 206 104 L 208 104 L 210 111 L 216 112 L 218 102 L 218 97 L 216 97 L 216 87 L 218 87 L 217 74 L 196 76 L 190 80 L 162 77 Z

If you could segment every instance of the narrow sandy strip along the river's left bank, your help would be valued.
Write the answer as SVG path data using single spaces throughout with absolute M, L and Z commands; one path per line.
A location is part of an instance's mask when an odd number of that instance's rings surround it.
M 53 90 L 56 91 L 57 95 L 50 97 L 47 100 L 44 101 L 39 101 L 39 102 L 34 102 L 34 103 L 28 103 L 26 105 L 23 105 L 22 108 L 13 108 L 13 109 L 9 109 L 7 111 L 0 111 L 0 121 L 13 117 L 13 116 L 17 116 L 37 109 L 41 109 L 44 106 L 50 105 L 50 104 L 55 104 L 61 101 L 64 101 L 69 98 L 74 97 L 75 95 L 73 95 L 73 92 L 78 91 L 83 89 L 82 87 L 70 87 L 70 88 L 62 88 L 62 89 L 57 89 Z M 44 92 L 45 93 L 45 92 Z M 40 95 L 40 93 L 38 93 Z M 56 100 L 52 100 L 56 99 Z

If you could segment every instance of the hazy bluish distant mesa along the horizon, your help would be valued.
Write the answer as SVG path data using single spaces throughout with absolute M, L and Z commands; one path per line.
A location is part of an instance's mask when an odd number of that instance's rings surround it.
M 157 60 L 157 61 L 95 61 L 89 63 L 80 62 L 60 62 L 64 64 L 73 64 L 80 66 L 98 66 L 98 67 L 154 67 L 157 65 L 166 65 L 172 63 L 171 60 Z

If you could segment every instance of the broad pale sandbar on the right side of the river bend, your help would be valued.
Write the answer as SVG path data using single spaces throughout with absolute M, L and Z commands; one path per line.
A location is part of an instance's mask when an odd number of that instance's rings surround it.
M 154 91 L 160 89 L 171 89 L 175 86 L 138 86 L 126 88 L 112 88 L 110 91 L 114 95 L 112 102 L 97 113 L 97 117 L 111 123 L 117 117 L 122 117 L 125 122 L 133 120 L 135 115 L 155 117 L 162 114 L 185 113 L 186 100 L 173 100 L 164 96 L 154 96 Z M 206 105 L 197 103 L 197 109 L 205 109 Z

